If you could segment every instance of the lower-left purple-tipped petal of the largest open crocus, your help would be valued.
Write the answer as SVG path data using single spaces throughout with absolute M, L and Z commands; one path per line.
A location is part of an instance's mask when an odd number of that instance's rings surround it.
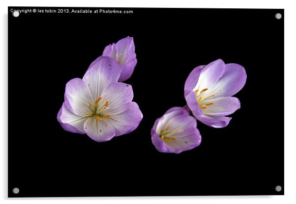
M 64 123 L 61 122 L 61 115 L 62 115 L 62 120 Z M 80 134 L 85 134 L 84 129 L 83 129 L 83 124 L 86 120 L 86 118 L 75 115 L 72 113 L 65 103 L 63 102 L 61 108 L 59 109 L 59 113 L 57 116 L 57 119 L 59 121 L 59 124 L 61 127 L 69 132 L 73 133 L 80 133 Z

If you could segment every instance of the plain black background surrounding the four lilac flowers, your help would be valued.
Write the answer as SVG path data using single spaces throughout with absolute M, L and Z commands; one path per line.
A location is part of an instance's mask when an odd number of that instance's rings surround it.
M 125 8 L 133 14 L 15 18 L 10 8 L 9 197 L 284 194 L 275 191 L 284 187 L 284 19 L 275 19 L 283 9 Z M 64 131 L 56 118 L 66 82 L 82 78 L 105 46 L 126 36 L 136 46 L 138 64 L 125 82 L 143 112 L 140 126 L 103 143 Z M 150 139 L 154 121 L 185 105 L 192 69 L 218 58 L 246 69 L 235 95 L 241 108 L 226 128 L 198 122 L 196 149 L 159 153 Z

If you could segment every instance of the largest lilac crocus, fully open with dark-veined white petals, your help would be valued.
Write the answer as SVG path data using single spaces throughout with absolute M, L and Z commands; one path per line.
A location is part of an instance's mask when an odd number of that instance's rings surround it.
M 118 63 L 111 57 L 101 57 L 82 79 L 70 80 L 58 113 L 62 128 L 86 133 L 98 142 L 136 129 L 143 115 L 132 102 L 132 86 L 118 82 L 119 75 Z

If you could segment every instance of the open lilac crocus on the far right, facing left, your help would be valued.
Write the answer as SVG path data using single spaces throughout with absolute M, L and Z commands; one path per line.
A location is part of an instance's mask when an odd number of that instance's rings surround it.
M 235 95 L 246 82 L 245 69 L 239 64 L 224 64 L 221 59 L 196 67 L 188 76 L 184 96 L 193 115 L 202 123 L 226 127 L 231 118 L 225 117 L 240 108 Z

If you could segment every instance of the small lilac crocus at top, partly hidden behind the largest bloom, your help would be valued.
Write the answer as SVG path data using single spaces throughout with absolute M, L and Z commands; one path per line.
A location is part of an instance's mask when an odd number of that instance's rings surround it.
M 103 56 L 110 56 L 119 63 L 121 74 L 118 81 L 125 81 L 133 74 L 137 59 L 132 37 L 126 37 L 116 44 L 108 45 L 103 51 Z

